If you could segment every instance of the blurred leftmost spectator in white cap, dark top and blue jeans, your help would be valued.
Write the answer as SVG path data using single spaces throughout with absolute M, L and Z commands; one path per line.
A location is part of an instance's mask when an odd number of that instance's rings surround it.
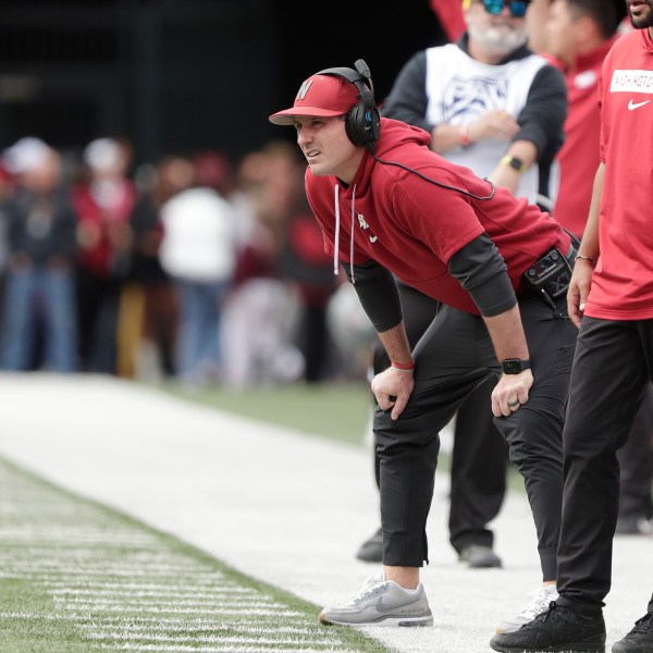
M 57 151 L 25 137 L 3 152 L 16 187 L 4 207 L 8 275 L 0 364 L 5 370 L 77 369 L 75 214 Z M 41 352 L 37 352 L 40 335 Z

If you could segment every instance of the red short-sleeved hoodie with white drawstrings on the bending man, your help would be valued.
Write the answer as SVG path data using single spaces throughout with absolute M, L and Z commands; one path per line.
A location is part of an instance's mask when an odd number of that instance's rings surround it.
M 492 194 L 489 182 L 431 151 L 429 139 L 419 127 L 382 118 L 375 153 L 439 184 L 479 197 Z M 369 151 L 349 186 L 333 176 L 313 176 L 310 168 L 305 181 L 328 254 L 335 249 L 337 197 L 341 261 L 374 260 L 408 285 L 470 313 L 479 315 L 479 310 L 449 276 L 447 263 L 483 232 L 503 256 L 517 293 L 521 274 L 549 249 L 557 247 L 566 254 L 569 248 L 570 238 L 556 221 L 505 188 L 496 188 L 490 199 L 473 199 L 402 168 L 382 164 Z

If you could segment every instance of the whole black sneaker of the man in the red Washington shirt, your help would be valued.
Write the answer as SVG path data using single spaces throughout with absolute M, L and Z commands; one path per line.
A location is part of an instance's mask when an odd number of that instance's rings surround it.
M 490 642 L 502 653 L 529 651 L 582 651 L 605 653 L 603 615 L 582 615 L 552 601 L 549 609 L 514 632 L 495 634 Z

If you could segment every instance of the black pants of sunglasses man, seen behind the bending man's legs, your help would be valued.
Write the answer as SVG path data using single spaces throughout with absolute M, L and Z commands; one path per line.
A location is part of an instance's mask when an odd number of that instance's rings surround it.
M 416 288 L 397 283 L 404 322 L 414 348 L 433 321 L 440 303 Z M 390 365 L 379 342 L 374 347 L 374 373 Z M 507 445 L 492 421 L 492 377 L 465 401 L 456 415 L 451 471 L 449 542 L 460 553 L 466 546 L 492 547 L 494 533 L 488 523 L 496 517 L 506 492 Z M 377 485 L 380 484 L 380 458 L 374 449 Z

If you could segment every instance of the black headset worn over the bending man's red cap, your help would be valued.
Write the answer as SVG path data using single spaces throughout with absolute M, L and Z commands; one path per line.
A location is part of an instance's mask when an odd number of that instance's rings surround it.
M 374 144 L 381 136 L 381 116 L 374 102 L 374 85 L 367 63 L 359 59 L 355 71 L 348 67 L 325 69 L 318 75 L 336 75 L 344 77 L 358 89 L 358 103 L 349 109 L 345 119 L 345 130 L 354 145 L 365 145 L 373 151 Z

